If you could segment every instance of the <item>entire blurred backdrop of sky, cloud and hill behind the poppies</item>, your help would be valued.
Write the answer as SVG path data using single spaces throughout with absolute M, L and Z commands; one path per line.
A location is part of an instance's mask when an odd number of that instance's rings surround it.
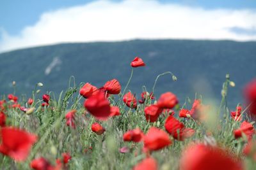
M 101 87 L 116 78 L 124 87 L 156 96 L 172 91 L 180 101 L 195 93 L 220 99 L 225 75 L 236 83 L 231 106 L 243 103 L 244 85 L 256 77 L 254 0 L 1 0 L 0 94 L 31 95 L 35 84 L 55 94 L 76 83 Z

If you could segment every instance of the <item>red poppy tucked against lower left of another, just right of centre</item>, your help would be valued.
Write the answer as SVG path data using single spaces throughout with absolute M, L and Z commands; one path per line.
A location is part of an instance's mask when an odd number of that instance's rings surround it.
M 156 122 L 159 115 L 162 113 L 163 109 L 159 108 L 157 104 L 152 104 L 150 106 L 145 107 L 145 117 L 146 120 L 150 122 Z

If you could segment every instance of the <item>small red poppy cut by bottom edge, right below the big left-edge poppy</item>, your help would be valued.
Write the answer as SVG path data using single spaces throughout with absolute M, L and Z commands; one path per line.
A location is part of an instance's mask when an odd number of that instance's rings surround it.
M 56 170 L 44 157 L 32 160 L 30 167 L 35 170 Z

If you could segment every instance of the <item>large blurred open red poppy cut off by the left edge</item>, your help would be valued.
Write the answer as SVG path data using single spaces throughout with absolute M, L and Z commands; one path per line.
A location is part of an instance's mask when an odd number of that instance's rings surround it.
M 0 138 L 0 152 L 16 161 L 26 160 L 31 146 L 37 140 L 35 134 L 14 127 L 2 127 Z

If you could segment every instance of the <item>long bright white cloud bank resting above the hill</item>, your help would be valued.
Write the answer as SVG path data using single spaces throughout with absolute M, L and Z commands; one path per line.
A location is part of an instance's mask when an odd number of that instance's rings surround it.
M 43 13 L 19 36 L 0 30 L 0 52 L 63 42 L 134 38 L 256 40 L 256 34 L 239 33 L 233 28 L 255 30 L 256 11 L 204 10 L 156 0 L 94 1 Z

